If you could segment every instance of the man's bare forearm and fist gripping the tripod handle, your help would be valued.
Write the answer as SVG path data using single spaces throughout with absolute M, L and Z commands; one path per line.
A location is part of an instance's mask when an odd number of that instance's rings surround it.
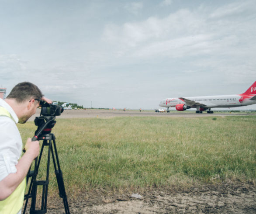
M 0 200 L 6 199 L 19 186 L 21 181 L 28 173 L 32 161 L 39 155 L 39 142 L 31 141 L 28 138 L 25 145 L 26 153 L 21 157 L 16 165 L 17 172 L 10 173 L 3 180 L 0 181 Z

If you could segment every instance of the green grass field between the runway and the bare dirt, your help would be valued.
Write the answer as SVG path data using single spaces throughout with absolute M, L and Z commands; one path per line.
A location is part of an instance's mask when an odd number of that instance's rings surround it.
M 230 180 L 255 185 L 255 124 L 255 116 L 57 118 L 52 133 L 66 191 L 76 197 L 95 188 L 186 188 Z M 34 122 L 18 128 L 24 142 L 36 130 Z M 38 179 L 46 174 L 43 162 L 40 171 Z M 50 171 L 52 194 L 53 166 Z

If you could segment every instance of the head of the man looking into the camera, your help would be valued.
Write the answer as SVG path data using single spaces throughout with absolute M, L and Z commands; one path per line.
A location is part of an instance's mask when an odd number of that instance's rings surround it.
M 18 83 L 6 97 L 6 102 L 14 109 L 19 123 L 25 123 L 33 114 L 43 94 L 41 90 L 33 83 Z

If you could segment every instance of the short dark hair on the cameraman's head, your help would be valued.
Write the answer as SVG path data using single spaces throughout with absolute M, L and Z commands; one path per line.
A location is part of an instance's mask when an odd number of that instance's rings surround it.
M 18 83 L 10 91 L 10 94 L 6 97 L 7 99 L 13 98 L 18 103 L 22 103 L 29 99 L 41 99 L 44 95 L 41 90 L 33 83 L 22 82 Z

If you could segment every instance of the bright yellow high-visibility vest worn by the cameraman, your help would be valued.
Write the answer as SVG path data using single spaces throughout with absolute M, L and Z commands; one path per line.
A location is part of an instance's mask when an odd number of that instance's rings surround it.
M 0 117 L 10 117 L 14 120 L 10 113 L 0 106 Z M 14 121 L 15 122 L 15 121 Z M 0 201 L 0 214 L 17 214 L 21 210 L 26 188 L 26 177 L 21 181 L 20 185 L 5 200 Z

